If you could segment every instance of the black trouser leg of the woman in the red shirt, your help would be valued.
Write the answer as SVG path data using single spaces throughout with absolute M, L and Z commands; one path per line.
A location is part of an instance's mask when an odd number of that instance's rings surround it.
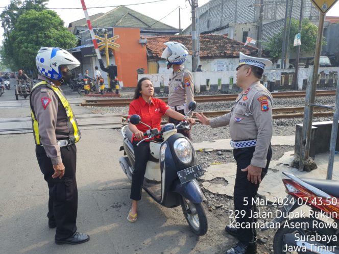
M 141 142 L 138 146 L 136 144 L 139 141 L 133 141 L 135 166 L 132 175 L 131 196 L 133 200 L 141 199 L 141 190 L 143 183 L 143 176 L 146 172 L 147 161 L 150 156 L 150 142 Z

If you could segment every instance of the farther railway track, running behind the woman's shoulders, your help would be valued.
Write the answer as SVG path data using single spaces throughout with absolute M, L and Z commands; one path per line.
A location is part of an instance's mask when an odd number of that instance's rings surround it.
M 335 95 L 336 90 L 318 90 L 317 96 L 330 96 Z M 272 93 L 273 98 L 290 98 L 290 97 L 304 97 L 306 91 L 289 91 L 289 92 L 275 92 Z M 230 101 L 235 100 L 238 94 L 216 94 L 216 95 L 198 95 L 195 100 L 198 103 L 206 103 L 211 101 Z M 168 97 L 160 97 L 163 101 L 167 102 Z M 86 99 L 81 106 L 95 106 L 95 107 L 123 107 L 128 106 L 132 99 Z

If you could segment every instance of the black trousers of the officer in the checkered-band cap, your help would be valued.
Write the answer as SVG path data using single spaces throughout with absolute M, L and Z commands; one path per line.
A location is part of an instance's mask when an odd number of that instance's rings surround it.
M 256 222 L 256 219 L 250 218 L 253 217 L 253 212 L 256 212 L 256 206 L 253 202 L 252 198 L 258 192 L 259 183 L 252 184 L 247 180 L 247 171 L 243 172 L 241 169 L 248 167 L 251 164 L 251 159 L 253 157 L 253 153 L 255 150 L 255 146 L 246 147 L 246 148 L 238 148 L 233 150 L 233 156 L 236 160 L 236 178 L 235 178 L 235 186 L 234 186 L 234 211 L 237 214 L 237 211 L 240 213 L 236 218 L 236 222 L 243 223 L 244 225 L 249 225 L 250 223 Z M 266 167 L 262 169 L 261 172 L 261 180 L 267 173 L 267 170 L 270 165 L 270 161 L 272 158 L 272 148 L 271 145 L 268 149 L 267 153 L 267 164 Z M 241 211 L 245 211 L 245 216 L 243 217 Z M 243 212 L 244 213 L 244 212 Z M 241 225 L 241 224 L 240 224 Z M 253 225 L 253 224 L 251 224 Z M 237 228 L 238 239 L 241 242 L 248 243 L 253 240 L 253 237 L 256 237 L 256 229 L 252 228 Z

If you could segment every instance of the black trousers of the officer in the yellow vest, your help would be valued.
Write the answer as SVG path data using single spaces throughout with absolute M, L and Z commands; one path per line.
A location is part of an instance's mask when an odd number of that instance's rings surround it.
M 56 222 L 56 240 L 70 237 L 77 231 L 78 188 L 76 180 L 77 147 L 69 145 L 60 148 L 65 174 L 62 179 L 53 179 L 53 164 L 45 149 L 35 148 L 39 167 L 49 187 L 49 224 Z

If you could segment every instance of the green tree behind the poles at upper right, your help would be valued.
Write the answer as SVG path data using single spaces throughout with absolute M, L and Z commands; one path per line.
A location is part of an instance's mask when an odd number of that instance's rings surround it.
M 287 20 L 288 24 L 288 20 Z M 299 20 L 292 19 L 289 30 L 288 50 L 290 53 L 296 52 L 293 46 L 294 37 L 299 33 Z M 314 54 L 317 43 L 318 27 L 312 24 L 309 19 L 304 18 L 301 27 L 301 53 Z M 264 49 L 269 53 L 270 57 L 278 59 L 282 52 L 282 31 L 274 34 L 268 43 L 264 43 Z M 325 37 L 323 37 L 322 45 L 326 45 Z

